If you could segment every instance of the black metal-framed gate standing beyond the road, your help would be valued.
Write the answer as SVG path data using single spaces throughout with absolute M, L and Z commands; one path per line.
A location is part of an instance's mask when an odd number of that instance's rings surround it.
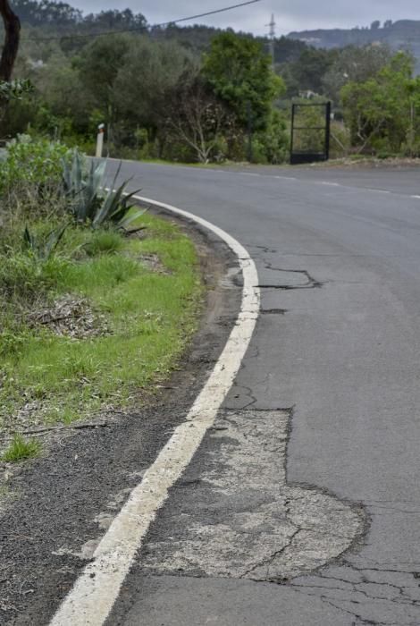
M 328 161 L 331 102 L 291 106 L 290 165 Z

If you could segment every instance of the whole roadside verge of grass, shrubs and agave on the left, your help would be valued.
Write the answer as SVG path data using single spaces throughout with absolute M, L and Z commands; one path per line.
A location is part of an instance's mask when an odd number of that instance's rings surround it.
M 21 138 L 0 164 L 0 448 L 122 410 L 176 366 L 197 325 L 193 243 L 102 190 L 104 166 Z

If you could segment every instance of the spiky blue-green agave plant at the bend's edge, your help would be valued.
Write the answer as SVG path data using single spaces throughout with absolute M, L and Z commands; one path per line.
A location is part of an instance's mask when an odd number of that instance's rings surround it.
M 74 152 L 71 165 L 63 163 L 63 186 L 71 199 L 71 212 L 80 224 L 88 223 L 92 228 L 112 224 L 115 228 L 126 231 L 134 220 L 145 213 L 145 209 L 130 213 L 133 207 L 130 199 L 139 190 L 131 193 L 125 191 L 130 180 L 116 188 L 121 172 L 120 164 L 111 189 L 104 195 L 105 171 L 106 161 L 97 163 L 92 160 L 86 172 L 84 160 L 77 150 Z

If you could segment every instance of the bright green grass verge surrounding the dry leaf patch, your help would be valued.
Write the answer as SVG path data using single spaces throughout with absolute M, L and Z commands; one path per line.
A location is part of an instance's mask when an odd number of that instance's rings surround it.
M 174 224 L 148 214 L 141 222 L 144 238 L 70 227 L 60 256 L 29 269 L 19 260 L 13 279 L 3 272 L 13 297 L 0 314 L 0 427 L 12 428 L 28 402 L 38 403 L 33 417 L 44 423 L 69 424 L 106 407 L 127 407 L 176 367 L 201 306 L 196 250 Z M 141 255 L 151 253 L 167 274 L 141 263 Z M 21 312 L 25 292 L 33 300 L 82 296 L 105 317 L 110 333 L 74 340 L 29 328 Z

